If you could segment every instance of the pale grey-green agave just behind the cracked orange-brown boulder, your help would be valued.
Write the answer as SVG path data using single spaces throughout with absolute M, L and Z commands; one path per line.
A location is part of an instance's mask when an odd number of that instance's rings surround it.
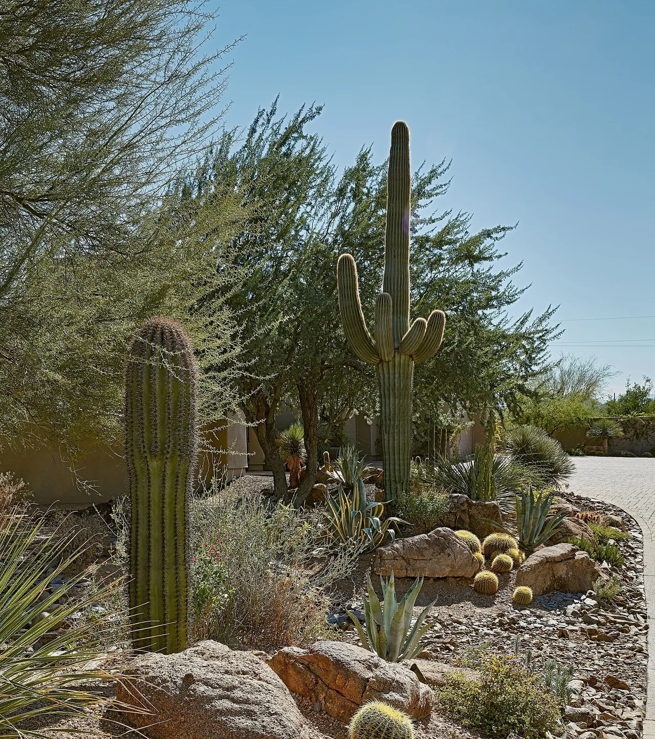
M 415 657 L 421 650 L 421 637 L 430 628 L 422 626 L 425 616 L 433 603 L 426 606 L 418 619 L 411 627 L 414 603 L 423 585 L 423 579 L 417 577 L 411 588 L 405 593 L 402 600 L 396 600 L 396 586 L 394 573 L 385 581 L 380 578 L 382 585 L 383 602 L 380 603 L 373 585 L 371 576 L 368 576 L 368 599 L 364 601 L 364 615 L 366 616 L 366 631 L 359 621 L 348 612 L 357 633 L 360 635 L 363 646 L 388 662 L 402 662 L 404 659 Z M 411 627 L 411 629 L 410 629 Z

